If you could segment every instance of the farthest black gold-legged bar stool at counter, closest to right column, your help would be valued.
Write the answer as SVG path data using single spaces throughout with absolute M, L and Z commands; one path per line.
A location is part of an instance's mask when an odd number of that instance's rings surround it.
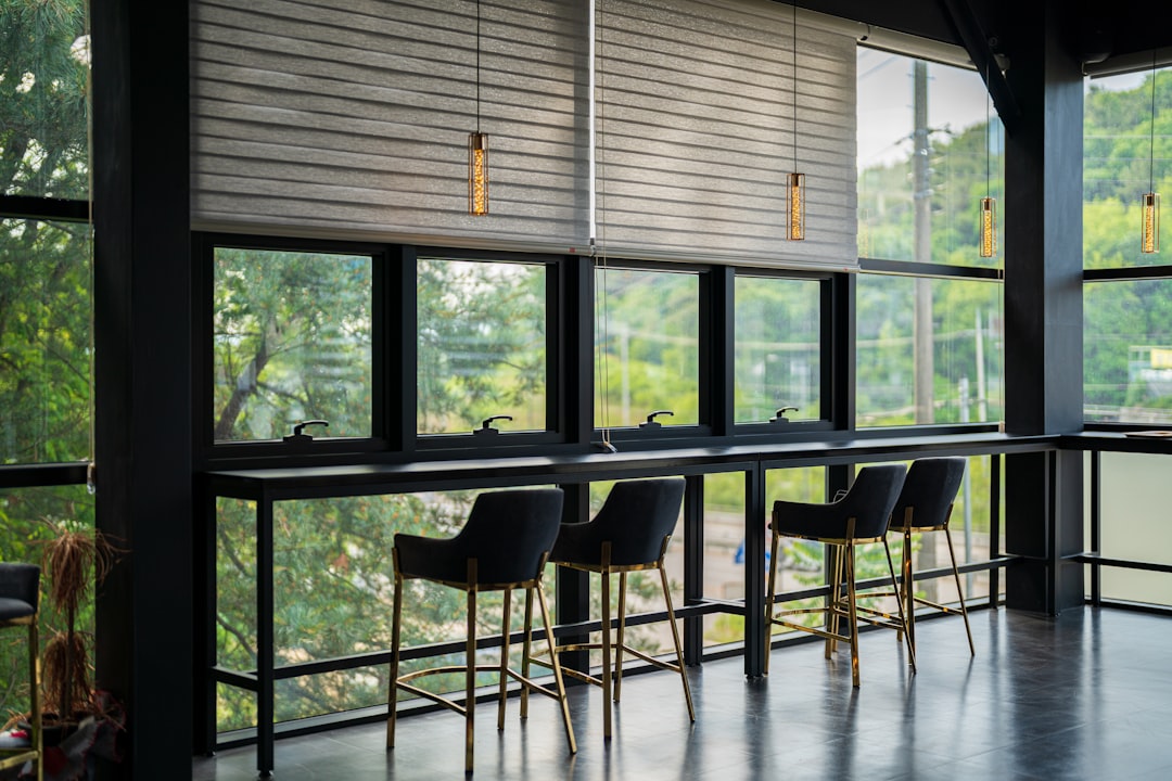
M 956 554 L 952 547 L 952 534 L 948 532 L 948 520 L 952 518 L 953 505 L 960 482 L 965 479 L 967 461 L 960 457 L 920 458 L 912 461 L 907 470 L 904 489 L 895 501 L 888 530 L 904 535 L 902 556 L 902 591 L 904 611 L 907 616 L 907 635 L 912 648 L 915 648 L 915 605 L 922 604 L 942 612 L 965 617 L 965 632 L 968 635 L 968 651 L 976 656 L 973 645 L 973 631 L 968 625 L 968 609 L 965 607 L 965 591 L 960 585 L 960 570 L 956 569 Z M 912 534 L 919 532 L 943 532 L 948 541 L 948 556 L 952 559 L 953 578 L 956 581 L 956 595 L 960 598 L 960 610 L 938 602 L 915 596 L 915 581 L 912 575 Z

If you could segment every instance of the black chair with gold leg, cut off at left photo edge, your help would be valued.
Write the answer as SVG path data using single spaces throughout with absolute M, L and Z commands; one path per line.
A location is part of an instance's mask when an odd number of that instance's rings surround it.
M 0 770 L 26 762 L 36 765 L 36 780 L 45 777 L 41 738 L 41 665 L 38 646 L 38 609 L 41 600 L 41 568 L 35 564 L 0 563 L 0 629 L 28 630 L 28 690 L 32 715 L 29 745 L 0 749 Z

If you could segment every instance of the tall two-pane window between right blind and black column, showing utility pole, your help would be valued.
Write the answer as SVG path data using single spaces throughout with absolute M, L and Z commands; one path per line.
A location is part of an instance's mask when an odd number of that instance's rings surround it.
M 999 420 L 1002 255 L 981 258 L 979 214 L 1003 200 L 1001 123 L 972 70 L 859 48 L 858 80 L 856 425 Z

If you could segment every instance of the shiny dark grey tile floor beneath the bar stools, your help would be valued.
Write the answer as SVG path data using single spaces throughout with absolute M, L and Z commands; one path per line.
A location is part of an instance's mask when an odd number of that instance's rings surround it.
M 571 755 L 557 705 L 539 698 L 527 722 L 509 700 L 496 729 L 478 707 L 473 777 L 742 781 L 778 779 L 1172 779 L 1172 621 L 1082 608 L 1049 618 L 974 612 L 976 657 L 960 618 L 921 621 L 920 669 L 911 674 L 894 633 L 860 640 L 863 685 L 850 655 L 826 662 L 822 644 L 774 651 L 771 674 L 747 679 L 740 658 L 690 671 L 696 721 L 679 678 L 624 680 L 615 734 L 602 740 L 600 692 L 575 687 Z M 450 712 L 335 729 L 277 744 L 274 777 L 297 781 L 463 776 L 463 721 Z M 195 781 L 254 779 L 251 747 L 196 758 Z

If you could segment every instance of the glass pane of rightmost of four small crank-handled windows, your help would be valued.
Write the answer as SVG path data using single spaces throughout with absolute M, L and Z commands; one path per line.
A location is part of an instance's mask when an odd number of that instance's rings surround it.
M 791 420 L 822 415 L 818 280 L 736 278 L 735 422 L 761 423 L 783 406 Z

